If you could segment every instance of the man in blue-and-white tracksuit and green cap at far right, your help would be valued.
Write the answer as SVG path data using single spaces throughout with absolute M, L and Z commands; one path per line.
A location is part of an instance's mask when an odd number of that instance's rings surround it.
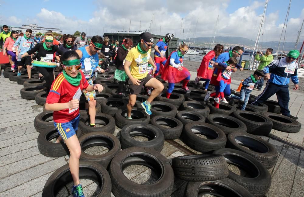
M 257 96 L 254 102 L 252 102 L 253 105 L 258 105 L 272 95 L 277 94 L 282 115 L 295 120 L 298 119 L 298 117 L 290 115 L 290 111 L 288 109 L 288 83 L 289 78 L 291 78 L 291 81 L 295 84 L 295 88 L 293 89 L 299 89 L 299 79 L 297 74 L 299 65 L 295 61 L 299 55 L 300 52 L 298 50 L 291 50 L 286 57 L 274 60 L 272 63 L 268 64 L 268 66 L 264 67 L 264 80 L 269 80 L 267 81 L 264 91 Z

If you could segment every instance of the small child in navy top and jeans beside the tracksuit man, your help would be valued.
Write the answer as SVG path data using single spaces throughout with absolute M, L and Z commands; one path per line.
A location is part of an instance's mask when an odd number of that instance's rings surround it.
M 250 75 L 250 77 L 248 77 L 247 79 L 245 79 L 242 83 L 242 88 L 240 91 L 240 96 L 236 96 L 234 94 L 231 94 L 230 96 L 228 96 L 228 100 L 230 100 L 231 98 L 233 99 L 237 99 L 240 101 L 243 101 L 243 105 L 241 110 L 245 110 L 246 105 L 248 103 L 249 100 L 249 96 L 250 93 L 252 92 L 252 89 L 254 88 L 254 85 L 258 85 L 259 80 L 264 77 L 264 72 L 262 70 L 256 70 L 254 71 L 254 73 L 252 75 Z

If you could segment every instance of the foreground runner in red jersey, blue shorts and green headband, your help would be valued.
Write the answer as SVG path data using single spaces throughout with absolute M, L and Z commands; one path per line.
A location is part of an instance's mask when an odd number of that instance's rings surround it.
M 75 51 L 67 51 L 61 55 L 62 73 L 53 82 L 51 90 L 47 96 L 45 109 L 54 111 L 54 125 L 60 137 L 64 140 L 70 151 L 69 167 L 74 185 L 72 193 L 74 197 L 84 197 L 79 181 L 79 157 L 81 148 L 75 131 L 78 130 L 79 123 L 79 99 L 81 91 L 88 92 L 98 90 L 103 87 L 100 84 L 89 85 L 81 70 L 80 57 Z

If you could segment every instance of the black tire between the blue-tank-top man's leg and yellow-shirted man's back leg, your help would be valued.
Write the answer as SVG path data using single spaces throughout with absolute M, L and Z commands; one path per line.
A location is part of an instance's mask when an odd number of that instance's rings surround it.
M 115 113 L 120 108 L 126 108 L 128 102 L 123 99 L 107 99 L 101 102 L 102 113 L 108 114 L 110 116 L 115 116 Z

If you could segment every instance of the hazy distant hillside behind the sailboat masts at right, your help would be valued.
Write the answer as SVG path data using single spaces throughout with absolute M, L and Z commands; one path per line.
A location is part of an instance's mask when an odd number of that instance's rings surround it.
M 195 38 L 195 45 L 203 45 L 206 43 L 212 43 L 213 37 L 197 37 Z M 194 42 L 194 38 L 190 38 L 190 42 Z M 243 37 L 231 37 L 231 36 L 216 36 L 214 40 L 215 44 L 237 44 L 243 47 L 253 48 L 255 40 L 249 40 Z M 300 50 L 302 43 L 298 43 L 297 49 Z M 282 50 L 283 42 L 280 44 L 280 49 Z M 259 43 L 259 48 L 273 48 L 277 50 L 278 42 L 261 42 Z M 284 51 L 292 50 L 295 47 L 295 42 L 285 42 Z

